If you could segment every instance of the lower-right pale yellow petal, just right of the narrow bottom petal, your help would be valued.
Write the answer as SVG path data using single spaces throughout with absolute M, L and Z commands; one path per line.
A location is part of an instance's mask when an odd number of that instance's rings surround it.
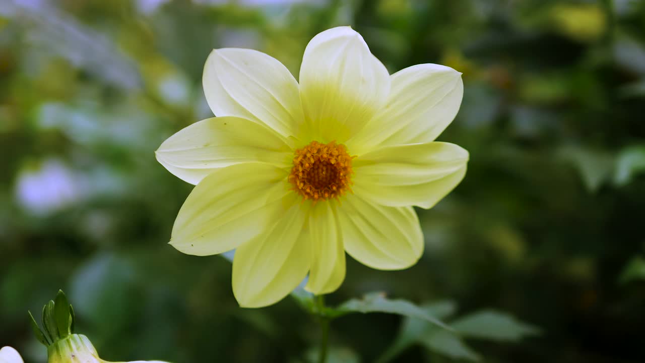
M 405 269 L 423 253 L 423 234 L 412 207 L 385 207 L 349 194 L 337 213 L 345 251 L 361 264 Z

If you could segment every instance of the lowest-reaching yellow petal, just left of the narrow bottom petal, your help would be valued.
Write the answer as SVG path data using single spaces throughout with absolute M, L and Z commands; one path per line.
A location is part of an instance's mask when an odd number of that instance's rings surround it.
M 311 265 L 306 203 L 286 196 L 262 234 L 235 250 L 233 294 L 242 307 L 278 302 L 300 284 Z

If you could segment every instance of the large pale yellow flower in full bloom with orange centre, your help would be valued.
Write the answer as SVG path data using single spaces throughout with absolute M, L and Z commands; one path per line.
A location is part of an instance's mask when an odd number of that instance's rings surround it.
M 435 142 L 455 118 L 461 73 L 441 65 L 390 76 L 348 26 L 313 37 L 300 83 L 276 59 L 216 49 L 204 93 L 216 118 L 177 132 L 157 160 L 197 186 L 170 244 L 198 256 L 235 250 L 241 306 L 306 289 L 330 293 L 345 251 L 375 269 L 423 252 L 413 205 L 430 208 L 464 177 L 468 152 Z

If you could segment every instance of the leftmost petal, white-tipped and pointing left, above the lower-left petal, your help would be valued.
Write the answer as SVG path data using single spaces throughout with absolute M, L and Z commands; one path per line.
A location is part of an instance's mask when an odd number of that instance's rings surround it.
M 168 171 L 191 184 L 215 169 L 261 161 L 290 164 L 291 149 L 274 130 L 237 117 L 209 118 L 179 130 L 155 152 Z

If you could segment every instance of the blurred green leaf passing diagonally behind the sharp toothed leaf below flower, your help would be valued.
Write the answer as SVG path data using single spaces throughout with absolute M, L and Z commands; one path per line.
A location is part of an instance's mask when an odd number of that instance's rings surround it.
M 421 306 L 426 313 L 435 316 L 437 319 L 450 318 L 455 313 L 457 306 L 450 300 L 435 302 L 433 304 L 424 304 Z M 406 318 L 401 324 L 399 334 L 394 342 L 388 349 L 381 355 L 377 362 L 384 363 L 390 362 L 397 355 L 401 354 L 404 350 L 413 346 L 417 341 L 426 333 L 437 329 L 435 325 L 430 324 L 426 320 L 417 318 Z

